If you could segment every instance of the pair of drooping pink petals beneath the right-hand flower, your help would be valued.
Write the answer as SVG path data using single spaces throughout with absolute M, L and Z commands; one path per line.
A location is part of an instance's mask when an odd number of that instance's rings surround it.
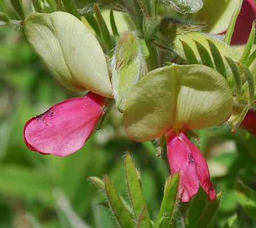
M 208 194 L 208 200 L 215 200 L 216 192 L 210 181 L 209 169 L 204 156 L 187 138 L 183 131 L 171 131 L 166 135 L 167 156 L 174 175 L 180 171 L 179 194 L 182 202 L 188 202 L 197 193 L 199 183 Z

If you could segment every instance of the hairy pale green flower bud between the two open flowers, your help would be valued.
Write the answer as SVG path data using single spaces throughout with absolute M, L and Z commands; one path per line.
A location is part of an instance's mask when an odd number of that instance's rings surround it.
M 111 69 L 116 107 L 122 113 L 130 89 L 144 74 L 142 49 L 134 32 L 126 32 L 120 36 Z

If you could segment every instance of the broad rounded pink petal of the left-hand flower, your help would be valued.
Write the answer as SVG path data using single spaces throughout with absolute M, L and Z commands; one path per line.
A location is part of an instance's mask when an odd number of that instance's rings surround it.
M 71 98 L 30 119 L 24 126 L 24 141 L 32 151 L 66 156 L 78 151 L 89 138 L 108 99 L 89 92 Z

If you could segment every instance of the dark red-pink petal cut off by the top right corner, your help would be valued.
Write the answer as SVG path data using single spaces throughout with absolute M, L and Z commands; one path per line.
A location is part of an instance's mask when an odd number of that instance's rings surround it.
M 231 45 L 241 45 L 247 42 L 251 31 L 251 24 L 256 19 L 254 0 L 243 0 L 240 14 L 231 40 Z

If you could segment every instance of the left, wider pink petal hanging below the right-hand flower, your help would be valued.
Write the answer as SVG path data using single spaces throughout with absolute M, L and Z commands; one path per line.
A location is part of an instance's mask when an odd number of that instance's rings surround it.
M 196 164 L 192 162 L 191 150 L 182 137 L 178 137 L 174 132 L 170 132 L 166 136 L 166 140 L 171 173 L 174 175 L 180 171 L 179 194 L 182 202 L 188 202 L 199 189 Z

